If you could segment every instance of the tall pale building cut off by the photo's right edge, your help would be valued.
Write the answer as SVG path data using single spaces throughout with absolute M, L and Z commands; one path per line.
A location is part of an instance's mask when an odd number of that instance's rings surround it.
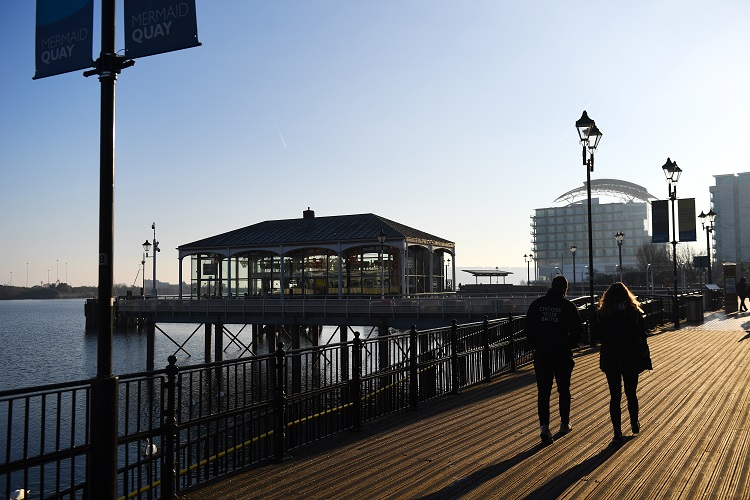
M 708 188 L 716 213 L 711 233 L 714 263 L 735 263 L 737 272 L 744 274 L 750 269 L 750 172 L 714 179 L 716 185 Z

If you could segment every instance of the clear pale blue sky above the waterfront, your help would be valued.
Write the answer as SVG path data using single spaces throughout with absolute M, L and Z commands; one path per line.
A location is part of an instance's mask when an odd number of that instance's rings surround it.
M 177 283 L 179 245 L 308 207 L 406 224 L 455 242 L 457 267 L 518 282 L 534 209 L 585 183 L 584 109 L 603 133 L 592 179 L 666 199 L 670 157 L 678 196 L 707 212 L 714 175 L 750 170 L 744 0 L 196 12 L 200 47 L 139 58 L 117 80 L 115 283 L 140 283 L 152 222 L 157 278 Z M 94 16 L 96 58 L 100 0 Z M 32 80 L 35 2 L 3 1 L 0 32 L 0 284 L 96 285 L 101 86 L 82 71 Z

